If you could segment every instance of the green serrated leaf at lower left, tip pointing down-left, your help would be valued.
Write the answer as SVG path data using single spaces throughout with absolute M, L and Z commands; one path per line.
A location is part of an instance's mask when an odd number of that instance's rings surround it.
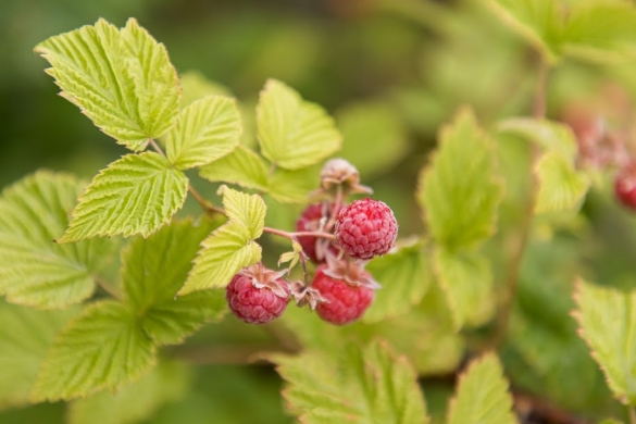
M 133 311 L 115 301 L 92 303 L 55 338 L 32 400 L 68 400 L 103 388 L 116 390 L 155 365 L 155 350 Z

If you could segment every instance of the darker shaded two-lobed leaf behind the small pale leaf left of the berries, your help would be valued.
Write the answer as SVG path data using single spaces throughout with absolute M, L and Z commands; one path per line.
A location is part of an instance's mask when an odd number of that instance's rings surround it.
M 202 221 L 173 221 L 148 239 L 137 237 L 123 252 L 121 279 L 126 302 L 158 345 L 183 342 L 227 310 L 223 294 L 197 292 L 176 298 L 192 266 L 199 244 L 214 228 Z

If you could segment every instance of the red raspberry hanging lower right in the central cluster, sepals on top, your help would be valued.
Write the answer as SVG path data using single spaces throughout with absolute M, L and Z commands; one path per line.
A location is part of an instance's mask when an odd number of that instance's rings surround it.
M 311 283 L 327 302 L 320 302 L 316 312 L 323 320 L 337 325 L 349 324 L 362 314 L 373 302 L 373 290 L 365 285 L 351 285 L 344 279 L 336 279 L 325 274 L 327 265 L 320 265 Z M 371 279 L 371 274 L 364 272 Z

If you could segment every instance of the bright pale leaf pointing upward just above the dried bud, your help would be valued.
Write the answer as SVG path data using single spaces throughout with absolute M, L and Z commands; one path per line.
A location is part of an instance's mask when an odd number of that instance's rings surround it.
M 257 105 L 263 155 L 286 170 L 313 165 L 335 153 L 341 136 L 317 104 L 303 101 L 285 84 L 269 79 Z

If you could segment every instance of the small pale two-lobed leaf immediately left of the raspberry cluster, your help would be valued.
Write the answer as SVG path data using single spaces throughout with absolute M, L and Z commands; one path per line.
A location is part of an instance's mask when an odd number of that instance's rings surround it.
M 254 240 L 263 233 L 265 202 L 260 196 L 247 195 L 221 186 L 223 205 L 229 222 L 201 242 L 195 266 L 179 296 L 208 288 L 227 286 L 242 267 L 261 260 L 262 249 Z

